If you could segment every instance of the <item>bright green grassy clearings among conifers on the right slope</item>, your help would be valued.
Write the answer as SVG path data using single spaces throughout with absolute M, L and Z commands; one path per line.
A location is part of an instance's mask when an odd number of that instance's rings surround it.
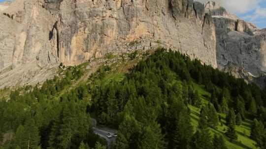
M 196 90 L 199 91 L 199 94 L 202 98 L 203 103 L 207 104 L 208 101 L 205 97 L 210 97 L 211 94 L 204 90 L 204 86 L 194 84 L 194 87 Z M 198 121 L 199 121 L 200 109 L 192 105 L 189 105 L 189 108 L 191 109 L 192 125 L 194 126 L 194 129 L 196 131 L 196 128 L 198 126 Z M 251 121 L 247 120 L 243 122 L 242 125 L 236 126 L 236 131 L 238 133 L 238 139 L 237 139 L 237 142 L 231 143 L 224 134 L 227 130 L 227 126 L 225 125 L 226 115 L 221 114 L 221 117 L 222 117 L 223 126 L 219 125 L 217 130 L 211 128 L 210 132 L 212 134 L 216 133 L 219 135 L 223 135 L 224 138 L 226 139 L 226 144 L 229 149 L 256 149 L 254 146 L 255 142 L 248 137 L 250 135 Z

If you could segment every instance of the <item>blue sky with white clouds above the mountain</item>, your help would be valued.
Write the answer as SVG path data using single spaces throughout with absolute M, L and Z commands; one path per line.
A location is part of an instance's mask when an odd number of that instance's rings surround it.
M 6 0 L 0 0 L 6 1 Z M 195 0 L 209 1 L 209 0 Z M 259 28 L 266 28 L 266 0 L 213 0 L 219 2 L 229 12 L 239 16 Z

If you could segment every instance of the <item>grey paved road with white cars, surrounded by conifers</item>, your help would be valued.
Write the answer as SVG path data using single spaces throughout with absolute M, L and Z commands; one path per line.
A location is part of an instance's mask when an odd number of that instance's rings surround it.
M 92 119 L 93 124 L 97 124 L 95 119 Z M 113 137 L 113 134 L 116 133 L 117 130 L 107 128 L 105 126 L 94 126 L 94 133 L 98 134 L 100 137 L 104 138 L 107 141 L 108 149 L 115 144 L 116 137 Z M 110 133 L 112 138 L 107 138 L 106 134 Z

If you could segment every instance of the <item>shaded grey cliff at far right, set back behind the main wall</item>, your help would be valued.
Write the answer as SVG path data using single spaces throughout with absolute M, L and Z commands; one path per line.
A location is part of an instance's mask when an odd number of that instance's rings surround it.
M 265 74 L 265 29 L 237 18 L 215 2 L 206 3 L 205 10 L 215 23 L 218 67 L 228 70 L 226 67 L 234 65 L 253 77 Z

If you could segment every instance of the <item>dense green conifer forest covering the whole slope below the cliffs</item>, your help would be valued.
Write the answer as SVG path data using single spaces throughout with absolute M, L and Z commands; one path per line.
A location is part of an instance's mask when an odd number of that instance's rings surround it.
M 265 90 L 177 51 L 145 55 L 121 80 L 99 81 L 112 70 L 102 66 L 67 90 L 86 70 L 61 65 L 63 76 L 12 91 L 0 100 L 0 149 L 109 148 L 91 117 L 117 129 L 113 149 L 249 149 L 240 135 L 266 149 Z

